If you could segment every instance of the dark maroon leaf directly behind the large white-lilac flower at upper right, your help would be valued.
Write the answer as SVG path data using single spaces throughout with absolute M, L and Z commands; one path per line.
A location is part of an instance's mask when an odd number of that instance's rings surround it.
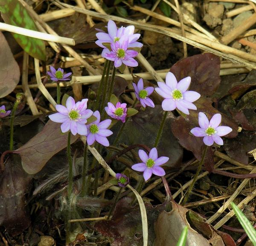
M 201 95 L 212 95 L 220 85 L 220 59 L 214 54 L 197 54 L 175 63 L 170 72 L 179 82 L 184 77 L 191 77 L 189 90 Z

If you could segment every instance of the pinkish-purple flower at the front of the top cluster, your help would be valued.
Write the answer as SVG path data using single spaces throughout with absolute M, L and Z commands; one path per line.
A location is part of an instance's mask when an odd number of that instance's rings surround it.
M 103 49 L 102 57 L 114 62 L 114 66 L 119 68 L 122 63 L 126 66 L 136 67 L 138 63 L 133 57 L 136 57 L 138 52 L 128 49 L 128 37 L 122 36 L 119 41 L 111 43 L 111 51 L 107 48 Z

